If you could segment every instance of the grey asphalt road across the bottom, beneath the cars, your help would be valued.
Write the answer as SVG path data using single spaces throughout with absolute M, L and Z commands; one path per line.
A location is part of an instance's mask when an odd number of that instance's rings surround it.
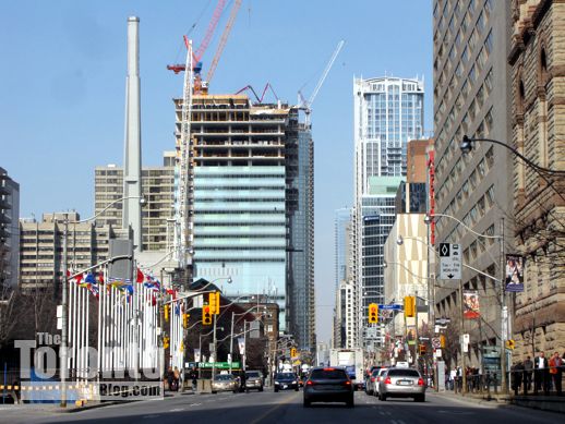
M 0 408 L 2 423 L 350 423 L 386 424 L 481 423 L 532 424 L 563 422 L 563 415 L 524 409 L 471 403 L 429 392 L 425 403 L 408 399 L 381 402 L 362 391 L 356 393 L 354 409 L 338 403 L 302 407 L 302 391 L 274 393 L 181 395 L 163 400 L 124 403 L 75 413 L 59 413 L 29 407 Z

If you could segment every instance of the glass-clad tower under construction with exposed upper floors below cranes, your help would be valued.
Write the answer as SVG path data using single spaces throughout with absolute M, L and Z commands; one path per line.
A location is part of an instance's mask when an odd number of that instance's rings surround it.
M 313 350 L 313 143 L 301 114 L 245 95 L 192 96 L 187 202 L 194 278 L 217 279 L 231 299 L 268 296 L 280 331 Z

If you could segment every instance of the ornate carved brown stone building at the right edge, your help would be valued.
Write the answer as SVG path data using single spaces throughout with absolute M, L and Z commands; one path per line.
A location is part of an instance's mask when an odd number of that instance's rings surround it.
M 512 143 L 516 252 L 525 258 L 512 338 L 517 360 L 565 349 L 565 4 L 512 1 Z M 542 177 L 543 175 L 543 177 Z

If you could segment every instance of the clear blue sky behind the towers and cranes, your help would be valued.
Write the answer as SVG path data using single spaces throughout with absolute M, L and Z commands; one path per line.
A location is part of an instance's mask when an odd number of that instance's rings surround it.
M 425 78 L 432 129 L 432 5 L 424 0 L 243 0 L 212 93 L 269 82 L 297 101 L 346 44 L 313 105 L 318 340 L 330 335 L 336 208 L 352 202 L 353 75 Z M 171 99 L 182 35 L 200 45 L 216 0 L 3 1 L 0 4 L 0 167 L 21 184 L 21 215 L 94 208 L 94 167 L 122 163 L 127 19 L 141 19 L 143 163 L 175 145 Z M 228 2 L 231 7 L 232 0 Z M 209 65 L 227 13 L 204 54 Z M 195 24 L 195 25 L 194 25 Z M 192 28 L 192 29 L 191 29 Z M 272 100 L 268 98 L 267 100 Z

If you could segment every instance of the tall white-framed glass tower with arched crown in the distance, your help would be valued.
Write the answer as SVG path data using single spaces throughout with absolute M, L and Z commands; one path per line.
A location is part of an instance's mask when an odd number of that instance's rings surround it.
M 384 299 L 383 245 L 407 172 L 408 142 L 423 135 L 423 82 L 417 78 L 353 81 L 353 280 L 362 323 L 357 337 L 365 346 L 373 344 L 368 342 L 368 305 Z

